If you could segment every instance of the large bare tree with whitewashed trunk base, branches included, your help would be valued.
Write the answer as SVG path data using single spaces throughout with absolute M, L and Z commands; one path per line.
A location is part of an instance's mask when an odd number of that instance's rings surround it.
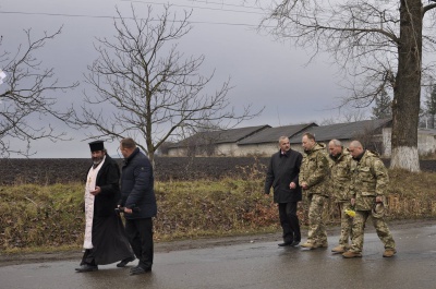
M 261 27 L 296 46 L 330 53 L 352 88 L 344 103 L 368 106 L 393 92 L 391 167 L 419 171 L 417 123 L 423 49 L 435 50 L 435 35 L 423 21 L 436 3 L 421 0 L 308 1 L 271 4 Z M 434 13 L 433 13 L 434 20 Z M 268 23 L 269 22 L 269 23 Z M 427 24 L 427 26 L 424 26 Z M 424 44 L 424 46 L 423 46 Z

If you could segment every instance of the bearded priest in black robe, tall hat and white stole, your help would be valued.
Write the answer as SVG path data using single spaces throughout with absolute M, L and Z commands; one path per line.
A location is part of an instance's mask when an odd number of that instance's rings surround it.
M 125 237 L 121 217 L 114 208 L 120 200 L 120 169 L 107 155 L 102 141 L 89 143 L 93 166 L 85 185 L 85 253 L 76 272 L 98 270 L 98 265 L 114 262 L 124 267 L 135 260 Z

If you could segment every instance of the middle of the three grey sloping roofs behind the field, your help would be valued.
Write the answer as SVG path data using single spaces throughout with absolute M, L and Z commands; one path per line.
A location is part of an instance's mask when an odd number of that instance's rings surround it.
M 294 134 L 307 130 L 312 127 L 317 127 L 316 123 L 303 123 L 303 124 L 292 124 L 278 128 L 268 128 L 256 134 L 253 134 L 240 142 L 238 145 L 249 145 L 249 144 L 262 144 L 262 143 L 278 143 L 279 137 L 286 135 L 288 137 Z

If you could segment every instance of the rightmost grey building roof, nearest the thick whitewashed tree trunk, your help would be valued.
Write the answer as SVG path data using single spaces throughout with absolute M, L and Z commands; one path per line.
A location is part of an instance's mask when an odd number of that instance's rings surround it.
M 317 142 L 328 142 L 332 139 L 336 140 L 351 140 L 371 132 L 372 134 L 386 127 L 391 127 L 392 119 L 377 119 L 377 120 L 363 120 L 356 122 L 335 123 L 330 125 L 312 127 L 304 130 L 294 136 L 289 142 L 291 144 L 301 143 L 301 137 L 304 133 L 312 133 Z

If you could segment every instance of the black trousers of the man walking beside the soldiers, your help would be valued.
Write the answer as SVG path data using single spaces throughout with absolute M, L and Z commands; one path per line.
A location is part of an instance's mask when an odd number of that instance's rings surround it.
M 279 203 L 280 225 L 283 229 L 283 241 L 301 241 L 300 221 L 296 216 L 296 202 Z

